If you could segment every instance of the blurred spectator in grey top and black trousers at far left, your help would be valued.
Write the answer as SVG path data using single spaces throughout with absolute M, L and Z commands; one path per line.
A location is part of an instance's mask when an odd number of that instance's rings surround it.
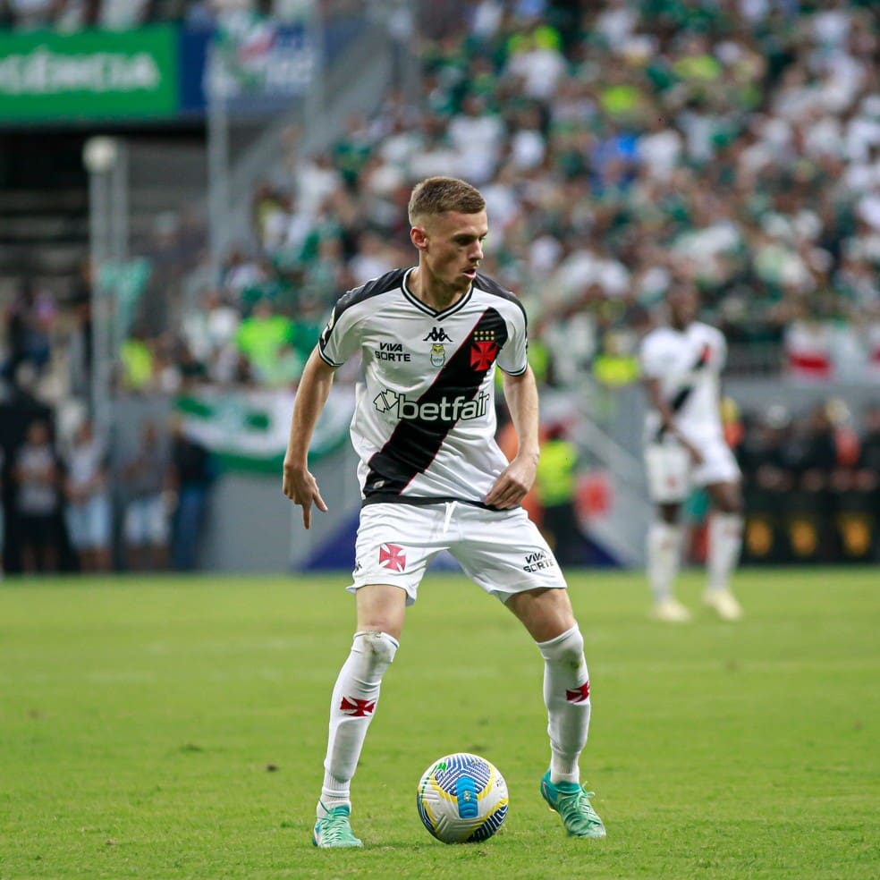
M 33 421 L 15 454 L 16 533 L 26 573 L 58 571 L 62 469 L 45 421 Z

